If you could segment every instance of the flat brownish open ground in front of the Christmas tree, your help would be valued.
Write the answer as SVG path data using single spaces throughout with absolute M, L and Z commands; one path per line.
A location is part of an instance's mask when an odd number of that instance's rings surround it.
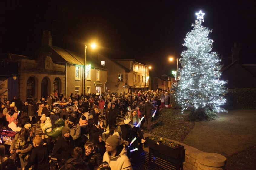
M 185 144 L 229 158 L 256 145 L 256 109 L 229 110 L 214 121 L 196 122 Z

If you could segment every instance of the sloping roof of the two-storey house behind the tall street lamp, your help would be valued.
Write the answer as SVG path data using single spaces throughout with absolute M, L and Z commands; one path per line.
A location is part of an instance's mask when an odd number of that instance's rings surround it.
M 84 54 L 80 54 L 78 52 L 74 52 L 56 46 L 51 46 L 51 48 L 55 52 L 57 52 L 62 58 L 64 58 L 64 60 L 66 60 L 67 62 L 76 65 L 84 65 Z M 86 57 L 86 63 L 91 64 L 91 67 L 105 69 L 100 64 L 98 64 L 97 61 L 90 57 Z

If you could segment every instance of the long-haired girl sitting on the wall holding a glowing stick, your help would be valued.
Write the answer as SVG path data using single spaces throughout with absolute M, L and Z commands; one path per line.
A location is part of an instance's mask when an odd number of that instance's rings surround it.
M 141 124 L 138 125 L 138 127 L 136 127 L 137 124 L 138 124 L 139 121 L 140 121 L 140 118 L 139 118 L 139 116 L 138 116 L 138 112 L 137 112 L 136 109 L 131 110 L 130 119 L 131 119 L 132 131 L 133 131 L 134 133 L 136 133 L 136 134 L 138 133 L 138 134 L 140 135 L 140 137 L 141 137 L 141 143 L 144 143 L 144 142 L 145 142 L 145 139 L 144 139 L 143 133 L 141 132 L 141 129 L 140 129 Z

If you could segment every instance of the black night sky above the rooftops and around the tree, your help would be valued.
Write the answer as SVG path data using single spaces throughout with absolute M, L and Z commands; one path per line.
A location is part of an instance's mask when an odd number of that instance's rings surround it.
M 53 45 L 84 52 L 95 41 L 110 58 L 134 58 L 152 65 L 151 74 L 171 74 L 195 12 L 213 30 L 214 51 L 231 57 L 242 44 L 242 63 L 256 64 L 256 1 L 12 1 L 1 0 L 0 53 L 32 56 L 43 30 L 53 31 Z M 88 49 L 88 52 L 90 49 Z

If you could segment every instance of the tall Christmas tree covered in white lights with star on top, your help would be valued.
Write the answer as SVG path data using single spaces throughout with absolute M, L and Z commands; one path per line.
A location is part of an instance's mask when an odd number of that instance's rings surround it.
M 204 13 L 196 14 L 194 28 L 184 39 L 183 46 L 187 50 L 181 53 L 179 60 L 182 69 L 176 97 L 182 112 L 192 109 L 191 114 L 204 119 L 216 115 L 214 112 L 225 111 L 220 106 L 226 101 L 226 82 L 220 80 L 221 60 L 216 52 L 212 52 L 213 40 L 208 38 L 211 30 L 202 26 Z

